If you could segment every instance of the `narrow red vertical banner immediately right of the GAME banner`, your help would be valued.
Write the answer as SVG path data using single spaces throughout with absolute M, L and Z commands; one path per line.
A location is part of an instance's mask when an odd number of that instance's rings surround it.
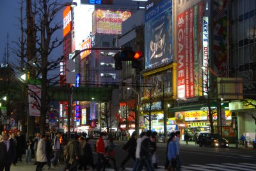
M 185 11 L 185 86 L 186 98 L 189 98 L 189 11 Z

